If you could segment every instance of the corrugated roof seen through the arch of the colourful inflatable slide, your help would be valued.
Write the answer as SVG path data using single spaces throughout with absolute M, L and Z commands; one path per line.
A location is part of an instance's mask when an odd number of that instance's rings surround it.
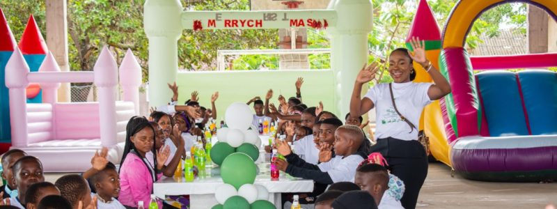
M 503 30 L 492 38 L 483 34 L 480 39 L 483 43 L 469 50 L 471 56 L 526 54 L 526 34 L 517 30 Z

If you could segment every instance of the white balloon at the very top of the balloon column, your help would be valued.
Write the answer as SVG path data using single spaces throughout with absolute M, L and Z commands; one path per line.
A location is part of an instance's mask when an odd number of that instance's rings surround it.
M 247 104 L 234 102 L 226 108 L 224 120 L 230 129 L 247 130 L 253 121 L 253 114 Z

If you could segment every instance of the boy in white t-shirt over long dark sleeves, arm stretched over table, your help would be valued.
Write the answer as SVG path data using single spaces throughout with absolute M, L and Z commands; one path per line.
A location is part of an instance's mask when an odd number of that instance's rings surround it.
M 323 124 L 322 124 L 323 126 Z M 309 164 L 292 153 L 288 144 L 278 141 L 278 153 L 286 160 L 276 160 L 276 167 L 290 176 L 315 180 L 316 183 L 330 185 L 341 181 L 354 181 L 356 167 L 364 159 L 357 153 L 363 144 L 363 132 L 354 125 L 343 125 L 335 132 L 334 150 L 336 160 L 319 165 Z

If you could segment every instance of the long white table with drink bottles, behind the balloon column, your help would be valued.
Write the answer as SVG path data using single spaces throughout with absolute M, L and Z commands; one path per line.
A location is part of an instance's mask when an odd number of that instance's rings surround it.
M 282 171 L 278 180 L 271 180 L 268 162 L 258 164 L 258 168 L 260 172 L 256 176 L 255 184 L 263 185 L 269 190 L 269 201 L 274 203 L 276 208 L 282 208 L 281 193 L 313 191 L 313 180 L 293 178 Z M 211 208 L 217 204 L 217 199 L 214 198 L 215 189 L 223 184 L 221 176 L 210 176 L 210 173 L 215 171 L 218 173 L 218 168 L 214 171 L 207 168 L 206 177 L 196 178 L 190 183 L 185 182 L 184 176 L 162 178 L 153 185 L 153 193 L 161 199 L 164 199 L 165 195 L 189 194 L 190 208 Z

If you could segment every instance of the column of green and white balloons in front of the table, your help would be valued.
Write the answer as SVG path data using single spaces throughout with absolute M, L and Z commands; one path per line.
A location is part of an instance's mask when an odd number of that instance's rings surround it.
M 219 142 L 214 145 L 211 160 L 221 168 L 223 185 L 216 188 L 217 208 L 275 208 L 269 202 L 269 192 L 262 185 L 253 185 L 256 180 L 261 140 L 256 130 L 249 130 L 253 116 L 244 103 L 235 102 L 228 106 L 225 121 L 228 127 L 217 131 Z

